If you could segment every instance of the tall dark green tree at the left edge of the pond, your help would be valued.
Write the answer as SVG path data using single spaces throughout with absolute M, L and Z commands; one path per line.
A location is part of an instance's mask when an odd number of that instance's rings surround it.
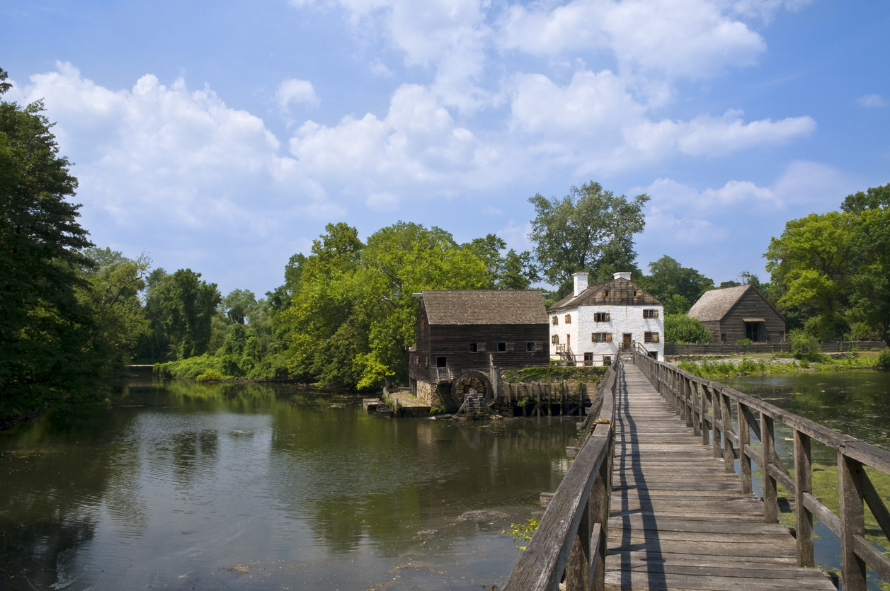
M 88 391 L 105 365 L 77 298 L 93 267 L 79 206 L 66 200 L 77 179 L 43 110 L 0 101 L 0 414 Z

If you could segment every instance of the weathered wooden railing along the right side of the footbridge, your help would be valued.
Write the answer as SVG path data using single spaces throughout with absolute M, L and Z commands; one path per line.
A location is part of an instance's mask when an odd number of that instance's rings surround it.
M 797 564 L 813 566 L 813 516 L 833 531 L 841 543 L 841 571 L 844 591 L 865 591 L 866 566 L 890 581 L 890 559 L 865 538 L 865 512 L 868 506 L 880 529 L 890 538 L 890 512 L 875 490 L 864 466 L 890 474 L 890 452 L 865 441 L 837 433 L 804 417 L 798 417 L 767 402 L 733 390 L 704 377 L 693 376 L 673 365 L 653 360 L 642 352 L 634 362 L 667 404 L 685 419 L 693 433 L 723 457 L 727 472 L 735 472 L 740 458 L 742 490 L 752 492 L 752 462 L 764 476 L 764 521 L 779 518 L 778 491 L 781 483 L 794 496 L 797 518 Z M 736 421 L 733 424 L 732 407 Z M 775 422 L 794 433 L 794 471 L 789 472 L 775 450 Z M 761 451 L 751 447 L 751 434 L 761 443 Z M 839 514 L 813 496 L 811 441 L 837 451 L 837 490 Z

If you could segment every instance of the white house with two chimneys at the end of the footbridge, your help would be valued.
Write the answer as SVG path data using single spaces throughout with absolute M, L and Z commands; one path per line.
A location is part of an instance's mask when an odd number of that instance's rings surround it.
M 552 360 L 608 365 L 619 348 L 635 343 L 664 360 L 664 306 L 631 281 L 630 273 L 590 287 L 587 273 L 573 277 L 572 293 L 547 312 Z

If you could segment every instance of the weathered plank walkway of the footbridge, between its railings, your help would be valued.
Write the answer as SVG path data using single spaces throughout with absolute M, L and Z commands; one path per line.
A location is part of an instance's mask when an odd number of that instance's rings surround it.
M 609 591 L 835 591 L 819 569 L 797 566 L 795 540 L 765 523 L 640 368 L 622 364 L 605 588 Z

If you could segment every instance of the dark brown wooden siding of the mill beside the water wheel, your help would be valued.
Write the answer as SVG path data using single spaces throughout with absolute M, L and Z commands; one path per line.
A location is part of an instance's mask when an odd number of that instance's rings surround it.
M 519 369 L 550 363 L 547 324 L 436 325 L 426 323 L 421 304 L 417 318 L 417 348 L 409 354 L 409 376 L 435 382 L 436 357 L 446 357 L 452 373 L 489 368 L 494 355 L 498 368 Z M 470 344 L 485 344 L 485 351 L 470 352 Z M 513 343 L 512 352 L 498 352 L 498 343 Z M 540 343 L 538 352 L 527 352 L 527 343 Z

